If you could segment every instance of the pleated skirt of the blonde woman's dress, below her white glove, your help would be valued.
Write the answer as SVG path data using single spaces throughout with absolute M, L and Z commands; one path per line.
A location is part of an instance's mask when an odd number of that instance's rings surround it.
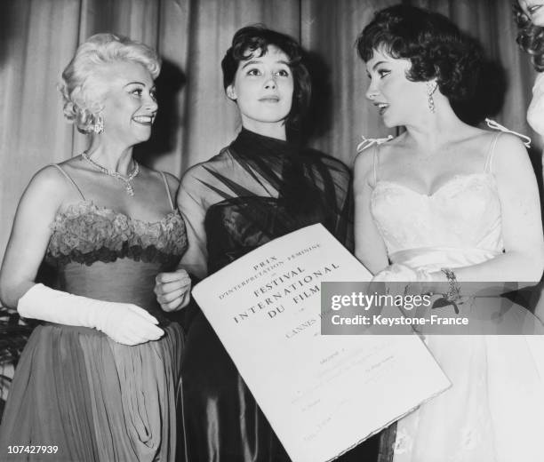
M 125 346 L 92 329 L 38 326 L 10 387 L 0 460 L 173 461 L 184 337 L 175 323 L 164 331 Z

